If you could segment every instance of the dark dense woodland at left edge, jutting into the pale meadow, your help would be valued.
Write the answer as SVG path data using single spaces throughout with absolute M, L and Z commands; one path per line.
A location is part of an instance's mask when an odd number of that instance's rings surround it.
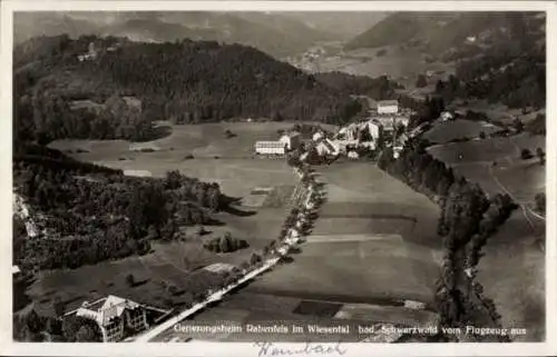
M 178 171 L 138 178 L 21 159 L 13 173 L 43 231 L 39 239 L 14 236 L 16 264 L 26 268 L 76 268 L 144 254 L 150 240 L 179 237 L 180 226 L 213 222 L 212 212 L 224 205 L 217 184 Z

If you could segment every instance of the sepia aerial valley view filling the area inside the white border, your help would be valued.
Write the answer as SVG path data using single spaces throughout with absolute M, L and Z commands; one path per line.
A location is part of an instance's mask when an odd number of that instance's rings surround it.
M 13 341 L 546 341 L 546 12 L 12 26 Z

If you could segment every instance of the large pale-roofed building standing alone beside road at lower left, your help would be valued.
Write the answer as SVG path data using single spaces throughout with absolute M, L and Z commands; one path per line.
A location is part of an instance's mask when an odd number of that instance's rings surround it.
M 84 301 L 77 310 L 66 314 L 69 315 L 95 320 L 105 343 L 124 339 L 127 330 L 137 331 L 148 327 L 147 311 L 141 305 L 114 295 L 94 303 Z

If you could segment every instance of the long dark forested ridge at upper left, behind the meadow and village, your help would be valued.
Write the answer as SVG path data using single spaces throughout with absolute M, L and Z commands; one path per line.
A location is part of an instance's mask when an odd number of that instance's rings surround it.
M 78 61 L 89 43 L 98 49 L 97 59 Z M 107 51 L 109 47 L 117 50 Z M 350 92 L 240 44 L 61 36 L 18 46 L 14 65 L 16 132 L 47 142 L 145 140 L 154 135 L 150 122 L 162 119 L 197 123 L 253 117 L 340 123 L 360 110 Z M 369 82 L 368 87 L 382 86 Z M 138 110 L 128 108 L 126 97 L 140 102 Z M 100 112 L 71 110 L 75 101 Z

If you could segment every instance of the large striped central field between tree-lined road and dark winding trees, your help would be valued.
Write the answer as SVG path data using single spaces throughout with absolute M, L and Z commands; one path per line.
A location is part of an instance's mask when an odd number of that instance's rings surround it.
M 441 260 L 437 206 L 370 162 L 317 169 L 326 202 L 293 261 L 225 298 L 219 313 L 201 313 L 196 323 L 226 320 L 231 314 L 242 315 L 234 319 L 238 324 L 323 319 L 416 326 L 436 318 L 429 309 Z M 405 300 L 426 303 L 428 309 L 404 308 Z M 247 337 L 222 337 L 242 338 Z

